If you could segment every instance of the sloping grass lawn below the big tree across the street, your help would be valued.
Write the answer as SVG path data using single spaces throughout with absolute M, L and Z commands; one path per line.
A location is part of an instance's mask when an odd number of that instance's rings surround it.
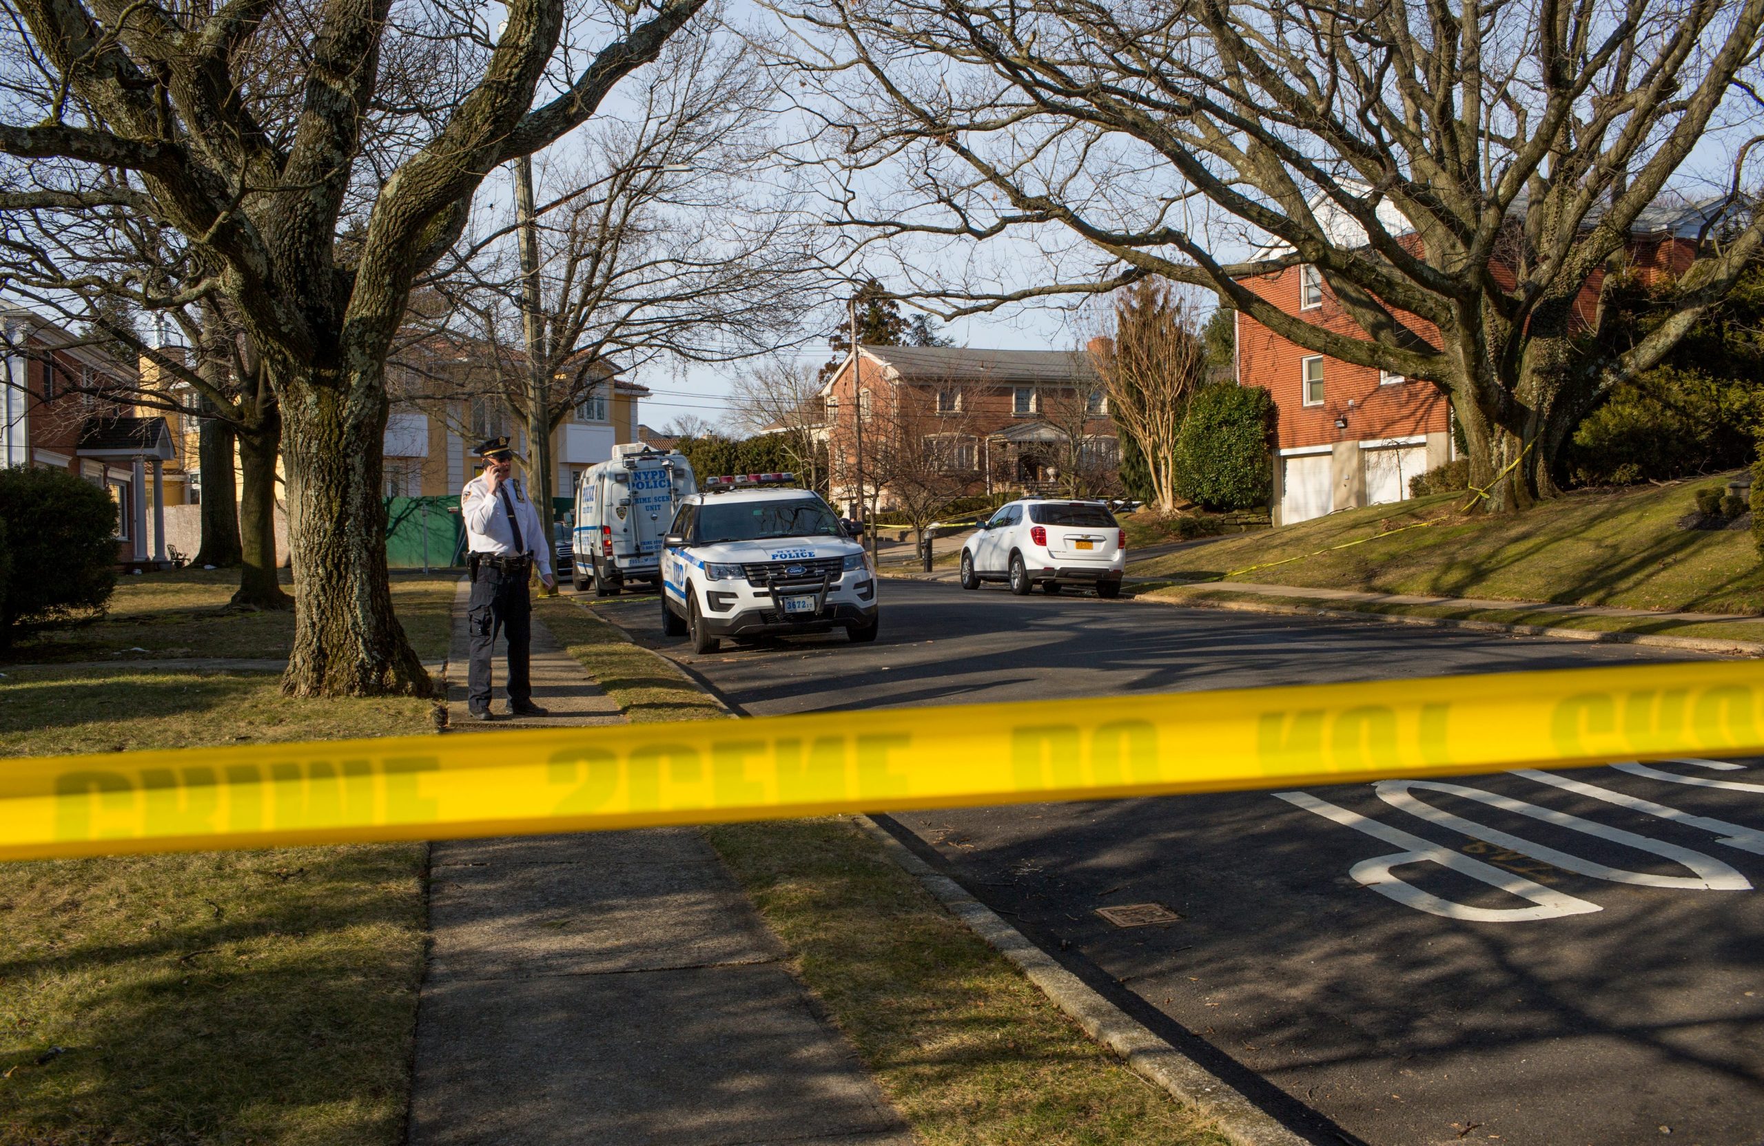
M 1438 494 L 1212 541 L 1129 571 L 1171 580 L 1235 573 L 1235 580 L 1281 585 L 1759 614 L 1764 568 L 1750 532 L 1678 527 L 1695 510 L 1697 488 L 1725 481 L 1718 476 L 1586 490 L 1512 517 L 1461 517 L 1455 508 L 1466 495 Z M 1436 524 L 1367 540 L 1424 520 Z M 1348 541 L 1365 543 L 1330 548 Z M 1286 561 L 1291 557 L 1297 561 Z

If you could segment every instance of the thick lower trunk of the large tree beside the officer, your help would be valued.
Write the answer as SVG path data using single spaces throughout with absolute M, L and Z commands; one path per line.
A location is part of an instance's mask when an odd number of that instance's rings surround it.
M 379 370 L 377 363 L 360 368 Z M 279 379 L 288 458 L 288 540 L 295 561 L 291 696 L 430 696 L 386 580 L 379 379 Z

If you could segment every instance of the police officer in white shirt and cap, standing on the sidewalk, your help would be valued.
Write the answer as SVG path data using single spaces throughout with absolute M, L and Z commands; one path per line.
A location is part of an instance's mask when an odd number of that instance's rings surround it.
M 466 483 L 459 497 L 466 518 L 471 569 L 471 605 L 466 622 L 471 629 L 471 672 L 466 707 L 473 719 L 490 718 L 490 649 L 496 633 L 508 635 L 508 707 L 510 716 L 545 716 L 533 703 L 527 679 L 527 644 L 533 601 L 527 578 L 538 564 L 540 580 L 557 584 L 550 568 L 550 538 L 540 524 L 533 502 L 512 474 L 515 455 L 506 437 L 492 437 L 473 450 L 483 458 L 483 473 Z

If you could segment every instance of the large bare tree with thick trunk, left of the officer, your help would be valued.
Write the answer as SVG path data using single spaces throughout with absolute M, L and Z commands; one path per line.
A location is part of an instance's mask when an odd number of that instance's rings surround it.
M 392 614 L 381 502 L 411 286 L 485 173 L 587 122 L 704 4 L 510 0 L 492 30 L 452 0 L 4 0 L 0 208 L 123 206 L 183 236 L 205 272 L 187 291 L 228 301 L 279 398 L 286 691 L 432 691 Z

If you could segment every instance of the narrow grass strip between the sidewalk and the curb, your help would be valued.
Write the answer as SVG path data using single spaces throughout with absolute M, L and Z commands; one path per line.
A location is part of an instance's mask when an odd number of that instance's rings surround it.
M 654 598 L 600 603 L 609 615 Z M 721 707 L 568 598 L 538 615 L 633 721 Z M 797 977 L 926 1146 L 1215 1146 L 1224 1139 L 1092 1042 L 850 820 L 706 829 Z

